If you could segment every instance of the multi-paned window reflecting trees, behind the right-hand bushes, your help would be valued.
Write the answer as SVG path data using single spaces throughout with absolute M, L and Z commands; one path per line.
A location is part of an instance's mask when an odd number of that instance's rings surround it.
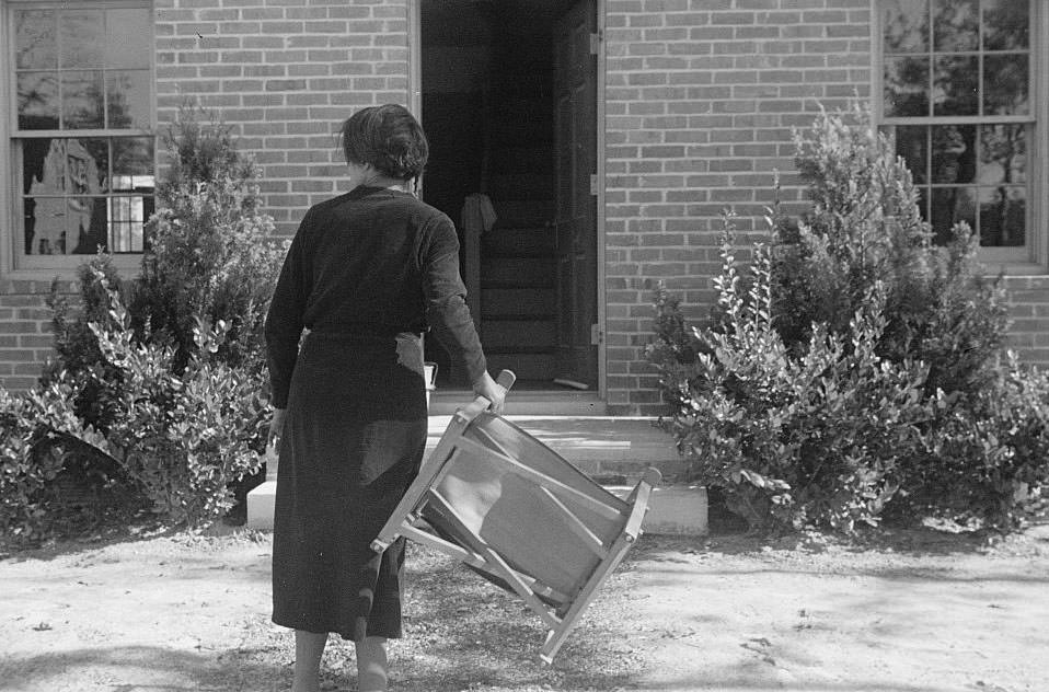
M 985 260 L 1030 262 L 1038 136 L 1030 0 L 881 0 L 880 123 L 937 241 L 966 221 Z

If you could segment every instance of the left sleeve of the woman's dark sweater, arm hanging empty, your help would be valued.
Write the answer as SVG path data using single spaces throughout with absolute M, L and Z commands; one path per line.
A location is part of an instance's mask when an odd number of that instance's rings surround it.
M 306 249 L 306 235 L 312 221 L 313 214 L 309 211 L 291 241 L 269 302 L 269 311 L 266 313 L 266 357 L 275 408 L 288 406 L 291 372 L 299 357 L 303 313 L 312 285 L 312 272 Z

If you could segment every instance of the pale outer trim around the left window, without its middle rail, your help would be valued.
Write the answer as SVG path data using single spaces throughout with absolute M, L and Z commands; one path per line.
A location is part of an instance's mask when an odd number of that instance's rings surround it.
M 136 0 L 97 0 L 92 5 L 105 7 L 135 7 L 149 10 L 152 18 L 151 27 L 157 25 L 157 10 L 152 2 Z M 14 154 L 13 137 L 18 131 L 18 117 L 14 104 L 15 94 L 11 76 L 14 72 L 14 22 L 12 15 L 18 7 L 34 8 L 68 8 L 67 2 L 56 0 L 0 0 L 0 36 L 3 37 L 5 49 L 0 54 L 0 104 L 4 113 L 0 114 L 0 280 L 33 280 L 50 281 L 56 276 L 71 279 L 77 269 L 87 263 L 91 255 L 25 255 L 21 252 L 23 243 L 22 220 L 19 217 L 22 209 L 22 195 L 18 186 L 21 183 L 18 157 Z M 157 135 L 157 59 L 155 33 L 153 34 L 153 59 L 150 60 L 150 129 L 147 134 Z M 129 134 L 138 134 L 135 130 Z M 153 150 L 153 170 L 159 173 L 158 152 Z M 134 276 L 141 267 L 141 253 L 122 253 L 113 255 L 113 266 L 125 277 Z

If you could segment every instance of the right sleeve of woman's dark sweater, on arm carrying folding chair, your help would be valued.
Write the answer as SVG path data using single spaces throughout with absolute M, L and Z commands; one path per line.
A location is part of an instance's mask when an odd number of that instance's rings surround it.
M 466 288 L 459 275 L 459 238 L 447 216 L 424 229 L 420 264 L 426 321 L 449 356 L 463 366 L 471 382 L 486 371 L 481 339 L 466 307 Z

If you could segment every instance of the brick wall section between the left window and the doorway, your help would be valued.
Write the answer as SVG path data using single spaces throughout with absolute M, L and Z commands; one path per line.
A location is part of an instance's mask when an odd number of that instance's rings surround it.
M 219 113 L 263 171 L 290 234 L 345 192 L 334 132 L 407 97 L 407 0 L 155 0 L 159 122 L 192 99 Z

